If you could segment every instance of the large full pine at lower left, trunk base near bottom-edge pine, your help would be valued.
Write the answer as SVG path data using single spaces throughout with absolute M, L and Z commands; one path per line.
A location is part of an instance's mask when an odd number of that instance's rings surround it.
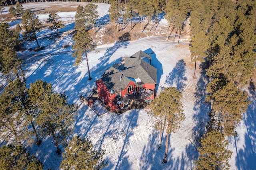
M 38 106 L 36 124 L 39 125 L 42 136 L 52 136 L 57 153 L 60 154 L 59 144 L 67 145 L 67 138 L 73 132 L 77 106 L 68 104 L 65 93 L 52 92 L 52 85 L 42 80 L 30 84 L 28 95 L 30 101 Z

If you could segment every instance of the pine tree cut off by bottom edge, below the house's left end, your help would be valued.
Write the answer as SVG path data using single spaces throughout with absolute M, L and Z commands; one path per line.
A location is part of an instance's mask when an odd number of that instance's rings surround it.
M 104 152 L 96 150 L 93 148 L 90 140 L 82 139 L 79 136 L 74 136 L 72 140 L 70 140 L 65 151 L 60 164 L 60 167 L 64 170 L 100 170 L 108 165 L 107 162 L 103 160 Z

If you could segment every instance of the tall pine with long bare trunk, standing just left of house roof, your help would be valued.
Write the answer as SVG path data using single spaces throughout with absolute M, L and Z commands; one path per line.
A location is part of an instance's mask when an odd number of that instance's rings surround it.
M 90 75 L 90 69 L 89 69 L 89 63 L 88 63 L 88 57 L 87 57 L 87 51 L 94 50 L 96 47 L 96 44 L 92 42 L 92 38 L 90 37 L 89 32 L 86 30 L 85 27 L 81 27 L 76 35 L 74 36 L 75 44 L 73 45 L 74 50 L 76 50 L 72 57 L 76 57 L 76 62 L 74 63 L 75 66 L 78 66 L 82 62 L 82 56 L 85 54 L 86 63 L 87 63 L 87 69 L 88 69 L 88 75 L 89 80 L 92 79 Z

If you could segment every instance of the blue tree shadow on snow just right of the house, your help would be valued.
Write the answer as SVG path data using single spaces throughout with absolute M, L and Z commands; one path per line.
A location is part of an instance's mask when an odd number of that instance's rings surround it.
M 180 59 L 172 69 L 172 72 L 166 76 L 165 83 L 170 87 L 177 87 L 178 91 L 183 91 L 186 86 L 185 81 L 187 80 L 185 72 L 186 63 L 183 59 Z

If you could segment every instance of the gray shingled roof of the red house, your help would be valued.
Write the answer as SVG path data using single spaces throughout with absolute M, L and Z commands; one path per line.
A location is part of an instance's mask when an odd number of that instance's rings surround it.
M 114 90 L 114 93 L 116 93 L 125 89 L 131 81 L 130 78 L 139 78 L 140 80 L 142 80 L 142 82 L 139 83 L 135 82 L 135 84 L 137 85 L 145 83 L 156 84 L 157 69 L 154 66 L 150 65 L 150 63 L 143 60 L 144 54 L 146 54 L 143 53 L 144 52 L 139 51 L 134 54 L 136 58 L 133 58 L 134 56 L 126 58 L 124 67 L 128 67 L 124 68 L 124 70 L 120 71 L 114 67 L 110 67 L 110 69 L 108 69 L 104 73 L 102 81 L 105 83 L 109 91 Z M 138 54 L 141 54 L 142 56 L 140 57 L 138 56 Z M 137 57 L 141 59 L 138 60 Z M 128 63 L 126 64 L 126 62 Z

